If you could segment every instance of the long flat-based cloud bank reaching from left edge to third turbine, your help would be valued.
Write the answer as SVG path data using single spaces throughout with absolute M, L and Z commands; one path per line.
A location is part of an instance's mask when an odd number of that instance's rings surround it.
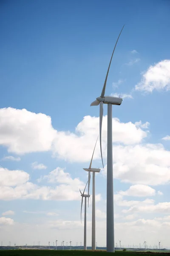
M 9 175 L 6 175 L 6 172 L 9 172 Z M 65 173 L 61 168 L 57 168 L 54 172 L 52 171 L 49 175 L 41 178 L 41 180 L 46 179 L 49 183 L 59 183 L 57 186 L 38 186 L 27 181 L 29 177 L 27 173 L 20 172 L 5 169 L 4 175 L 0 176 L 0 200 L 21 198 L 58 201 L 79 200 L 79 188 L 84 189 L 85 187 L 79 178 L 72 179 L 71 175 Z

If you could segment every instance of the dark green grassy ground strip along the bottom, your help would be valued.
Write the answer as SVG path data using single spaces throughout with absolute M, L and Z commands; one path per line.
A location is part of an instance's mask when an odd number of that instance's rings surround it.
M 97 255 L 96 255 L 97 254 Z M 0 256 L 108 256 L 106 251 L 91 250 L 0 250 Z M 115 256 L 158 256 L 159 253 L 116 251 Z M 167 254 L 167 253 L 161 253 Z

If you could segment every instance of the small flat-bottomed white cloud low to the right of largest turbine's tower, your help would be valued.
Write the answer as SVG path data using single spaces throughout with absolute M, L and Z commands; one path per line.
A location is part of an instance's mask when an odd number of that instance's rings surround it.
M 156 194 L 156 190 L 147 185 L 136 184 L 130 186 L 126 191 L 119 191 L 120 195 L 128 195 L 128 196 L 137 196 L 137 197 L 145 197 L 145 196 L 153 196 Z

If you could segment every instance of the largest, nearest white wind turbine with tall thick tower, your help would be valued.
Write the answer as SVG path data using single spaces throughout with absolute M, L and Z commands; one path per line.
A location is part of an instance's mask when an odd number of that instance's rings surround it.
M 124 25 L 125 26 L 125 25 Z M 122 27 L 122 30 L 124 28 Z M 122 30 L 119 36 L 122 33 Z M 119 36 L 117 38 L 116 44 L 119 40 Z M 113 53 L 116 48 L 113 49 L 111 60 L 109 63 L 108 71 L 105 78 L 105 83 L 103 85 L 102 93 L 100 97 L 97 97 L 94 102 L 91 103 L 91 106 L 100 105 L 100 113 L 99 113 L 99 136 L 100 136 L 100 151 L 102 157 L 102 118 L 103 118 L 103 104 L 108 104 L 108 142 L 107 142 L 107 252 L 115 252 L 114 249 L 114 212 L 113 212 L 113 146 L 112 146 L 112 105 L 121 105 L 122 98 L 113 97 L 113 96 L 105 96 L 105 88 L 108 79 L 108 73 L 111 66 L 111 61 L 113 57 Z M 103 157 L 102 157 L 102 165 L 103 165 Z M 104 168 L 104 165 L 103 165 Z

